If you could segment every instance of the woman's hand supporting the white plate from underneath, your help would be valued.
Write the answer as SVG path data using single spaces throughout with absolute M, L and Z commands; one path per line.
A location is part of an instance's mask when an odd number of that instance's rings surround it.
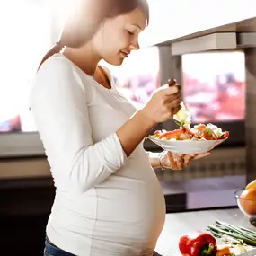
M 195 159 L 210 155 L 210 152 L 203 154 L 172 154 L 170 151 L 163 151 L 159 156 L 161 167 L 172 170 L 182 170 Z

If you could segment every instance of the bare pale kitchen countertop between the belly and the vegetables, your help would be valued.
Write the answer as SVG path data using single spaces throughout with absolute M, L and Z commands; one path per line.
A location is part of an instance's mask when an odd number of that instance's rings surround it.
M 212 224 L 216 219 L 256 231 L 256 227 L 238 208 L 170 213 L 166 215 L 156 251 L 163 256 L 174 256 L 179 252 L 178 243 L 182 234 L 206 230 L 207 225 Z

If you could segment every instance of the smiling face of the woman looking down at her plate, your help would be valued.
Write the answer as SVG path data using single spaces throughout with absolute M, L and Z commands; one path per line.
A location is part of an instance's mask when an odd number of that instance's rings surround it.
M 139 49 L 138 35 L 146 27 L 146 15 L 140 8 L 107 19 L 93 36 L 93 45 L 102 59 L 119 66 L 131 50 Z

